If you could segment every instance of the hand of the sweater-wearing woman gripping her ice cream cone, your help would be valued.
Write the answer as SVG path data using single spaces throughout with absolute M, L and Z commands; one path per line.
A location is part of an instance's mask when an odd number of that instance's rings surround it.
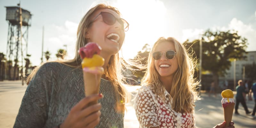
M 102 94 L 94 94 L 80 100 L 71 108 L 60 128 L 94 128 L 100 122 L 101 104 L 97 103 L 91 106 L 88 104 L 102 97 Z

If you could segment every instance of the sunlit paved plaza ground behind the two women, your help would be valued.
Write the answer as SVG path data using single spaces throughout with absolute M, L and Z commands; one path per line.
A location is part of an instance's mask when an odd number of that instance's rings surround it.
M 21 81 L 0 81 L 0 128 L 12 128 L 19 111 L 22 97 L 27 85 L 22 86 Z M 128 91 L 136 93 L 138 86 L 129 87 Z M 236 93 L 236 92 L 234 92 Z M 224 120 L 221 107 L 221 95 L 208 97 L 207 93 L 201 94 L 201 100 L 196 101 L 196 126 L 198 128 L 212 128 Z M 246 101 L 250 111 L 254 107 L 254 101 Z M 236 128 L 255 128 L 256 118 L 246 115 L 242 105 L 239 105 L 240 115 L 233 115 Z M 139 128 L 139 123 L 133 108 L 133 102 L 127 104 L 127 112 L 124 117 L 125 128 Z

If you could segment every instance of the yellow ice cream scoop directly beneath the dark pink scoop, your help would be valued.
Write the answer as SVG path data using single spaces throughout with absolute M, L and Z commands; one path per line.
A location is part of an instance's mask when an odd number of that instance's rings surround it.
M 104 58 L 102 58 L 100 55 L 98 54 L 94 54 L 92 56 L 92 58 L 84 58 L 81 65 L 82 68 L 84 67 L 98 67 L 98 66 L 103 66 L 104 65 Z

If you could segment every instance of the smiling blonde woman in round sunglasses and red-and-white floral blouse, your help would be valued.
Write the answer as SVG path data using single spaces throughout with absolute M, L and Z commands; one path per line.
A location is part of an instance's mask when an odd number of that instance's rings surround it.
M 198 82 L 193 78 L 194 64 L 175 38 L 160 37 L 156 41 L 135 97 L 134 108 L 141 128 L 195 127 Z M 215 127 L 224 128 L 225 122 Z

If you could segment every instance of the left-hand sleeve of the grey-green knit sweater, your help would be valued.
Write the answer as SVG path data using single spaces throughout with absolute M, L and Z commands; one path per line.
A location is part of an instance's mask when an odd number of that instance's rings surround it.
M 42 128 L 49 108 L 51 71 L 44 64 L 29 83 L 22 99 L 14 128 Z

